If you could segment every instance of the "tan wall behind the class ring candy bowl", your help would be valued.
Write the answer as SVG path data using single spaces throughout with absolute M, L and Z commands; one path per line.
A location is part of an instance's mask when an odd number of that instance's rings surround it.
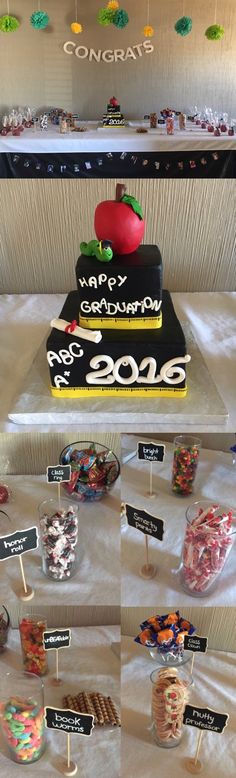
M 58 462 L 64 446 L 74 441 L 92 441 L 101 443 L 120 459 L 120 435 L 117 433 L 97 433 L 89 428 L 58 434 L 14 432 L 0 435 L 0 474 L 2 475 L 41 475 L 46 472 L 50 462 Z

